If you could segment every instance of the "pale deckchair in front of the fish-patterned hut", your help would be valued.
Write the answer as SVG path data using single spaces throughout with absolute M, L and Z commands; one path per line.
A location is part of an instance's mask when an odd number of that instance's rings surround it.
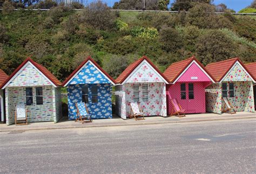
M 15 106 L 15 124 L 16 126 L 17 124 L 28 124 L 28 116 L 26 115 L 26 106 L 24 104 Z

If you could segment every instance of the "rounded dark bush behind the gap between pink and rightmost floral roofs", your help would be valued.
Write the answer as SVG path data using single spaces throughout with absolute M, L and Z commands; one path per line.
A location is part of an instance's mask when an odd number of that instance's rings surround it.
M 210 30 L 202 34 L 196 44 L 197 58 L 207 65 L 235 56 L 237 46 L 223 32 Z

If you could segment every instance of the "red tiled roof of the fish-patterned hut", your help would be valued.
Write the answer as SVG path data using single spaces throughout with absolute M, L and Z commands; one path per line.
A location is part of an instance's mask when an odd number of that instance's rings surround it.
M 5 85 L 6 83 L 8 83 L 9 80 L 10 80 L 10 79 L 19 71 L 19 69 L 21 69 L 21 68 L 26 64 L 26 62 L 28 62 L 28 61 L 30 61 L 31 64 L 33 64 L 33 65 L 34 65 L 37 69 L 39 69 L 39 71 L 41 71 L 49 80 L 51 80 L 51 82 L 52 82 L 53 84 L 55 84 L 56 86 L 61 86 L 61 85 L 62 85 L 62 83 L 61 83 L 54 75 L 52 75 L 52 73 L 51 73 L 48 69 L 46 69 L 44 66 L 38 64 L 37 62 L 33 61 L 31 58 L 27 58 L 26 60 L 24 60 L 24 61 L 22 62 L 21 65 L 18 66 L 18 68 L 15 69 L 15 71 L 9 76 L 9 78 L 4 81 L 4 83 L 3 83 L 2 86 L 1 86 L 1 88 L 3 88 L 4 85 Z

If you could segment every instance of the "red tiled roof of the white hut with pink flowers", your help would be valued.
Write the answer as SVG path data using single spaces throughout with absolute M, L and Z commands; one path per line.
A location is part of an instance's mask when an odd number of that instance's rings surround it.
M 143 60 L 146 60 L 147 62 L 149 62 L 149 64 L 150 64 L 154 69 L 156 69 L 156 71 L 157 71 L 161 76 L 163 76 L 163 78 L 164 78 L 167 82 L 169 82 L 169 80 L 166 78 L 166 76 L 165 76 L 163 73 L 161 73 L 161 72 L 159 71 L 159 69 L 158 69 L 158 68 L 150 61 L 150 59 L 147 58 L 145 55 L 144 55 L 142 58 L 140 58 L 140 59 L 134 61 L 131 65 L 129 65 L 129 66 L 118 76 L 118 78 L 116 79 L 116 82 L 117 82 L 117 83 L 122 83 L 122 82 L 133 72 L 133 70 L 134 70 L 137 66 L 139 66 L 139 64 L 140 64 Z

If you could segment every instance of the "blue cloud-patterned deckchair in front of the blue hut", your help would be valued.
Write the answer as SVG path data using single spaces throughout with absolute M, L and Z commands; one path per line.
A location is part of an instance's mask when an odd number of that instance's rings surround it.
M 86 120 L 89 120 L 89 122 L 92 122 L 91 116 L 88 112 L 85 102 L 76 103 L 76 108 L 77 108 L 76 121 L 80 121 L 80 122 L 84 123 L 84 122 L 86 122 Z

